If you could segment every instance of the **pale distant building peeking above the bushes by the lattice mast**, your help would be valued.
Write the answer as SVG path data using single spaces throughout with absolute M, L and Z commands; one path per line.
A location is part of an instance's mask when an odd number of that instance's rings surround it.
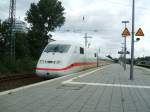
M 5 20 L 6 23 L 10 23 L 9 20 Z M 23 32 L 23 33 L 27 33 L 28 32 L 28 28 L 27 28 L 27 24 L 24 21 L 21 21 L 19 19 L 15 20 L 15 27 L 13 28 L 13 32 Z

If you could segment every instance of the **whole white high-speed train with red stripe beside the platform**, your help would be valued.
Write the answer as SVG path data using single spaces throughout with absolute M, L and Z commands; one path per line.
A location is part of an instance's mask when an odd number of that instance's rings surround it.
M 75 42 L 54 41 L 44 49 L 36 74 L 41 77 L 62 76 L 97 66 L 97 52 Z M 99 65 L 107 61 L 100 59 Z

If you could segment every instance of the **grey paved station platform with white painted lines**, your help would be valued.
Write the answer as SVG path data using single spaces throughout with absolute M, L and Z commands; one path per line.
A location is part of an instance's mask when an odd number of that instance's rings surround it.
M 150 112 L 150 70 L 119 64 L 0 93 L 0 112 Z

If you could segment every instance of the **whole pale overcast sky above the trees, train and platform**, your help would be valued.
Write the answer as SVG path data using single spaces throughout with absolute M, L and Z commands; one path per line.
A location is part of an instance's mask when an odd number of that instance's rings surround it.
M 24 20 L 25 13 L 30 3 L 39 0 L 17 0 L 16 17 Z M 121 36 L 124 24 L 123 20 L 129 20 L 127 25 L 131 32 L 132 0 L 61 0 L 65 7 L 66 23 L 60 31 L 52 32 L 56 40 L 74 40 L 84 44 L 84 34 L 92 36 L 89 39 L 91 47 L 100 48 L 101 55 L 113 55 L 118 57 Z M 135 0 L 135 32 L 139 27 L 145 36 L 135 43 L 135 57 L 150 56 L 150 1 Z M 8 17 L 9 0 L 1 0 L 0 15 L 4 20 Z M 83 21 L 83 16 L 85 17 Z M 65 32 L 71 30 L 71 32 Z M 96 32 L 95 32 L 96 31 Z M 130 51 L 131 37 L 127 37 L 127 49 Z M 129 56 L 128 56 L 129 57 Z

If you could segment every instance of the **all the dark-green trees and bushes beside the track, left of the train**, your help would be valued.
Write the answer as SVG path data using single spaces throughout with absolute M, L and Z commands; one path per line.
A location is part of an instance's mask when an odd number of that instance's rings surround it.
M 48 43 L 49 33 L 65 23 L 64 7 L 58 0 L 31 3 L 25 21 L 28 33 L 15 31 L 15 62 L 10 59 L 10 27 L 0 21 L 0 74 L 32 73 L 37 60 Z

